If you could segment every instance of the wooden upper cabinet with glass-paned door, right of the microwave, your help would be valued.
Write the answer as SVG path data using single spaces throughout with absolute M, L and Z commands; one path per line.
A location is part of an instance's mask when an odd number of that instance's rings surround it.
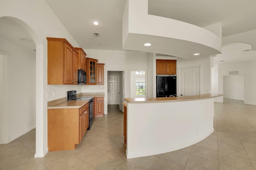
M 86 58 L 86 84 L 97 84 L 97 59 Z

